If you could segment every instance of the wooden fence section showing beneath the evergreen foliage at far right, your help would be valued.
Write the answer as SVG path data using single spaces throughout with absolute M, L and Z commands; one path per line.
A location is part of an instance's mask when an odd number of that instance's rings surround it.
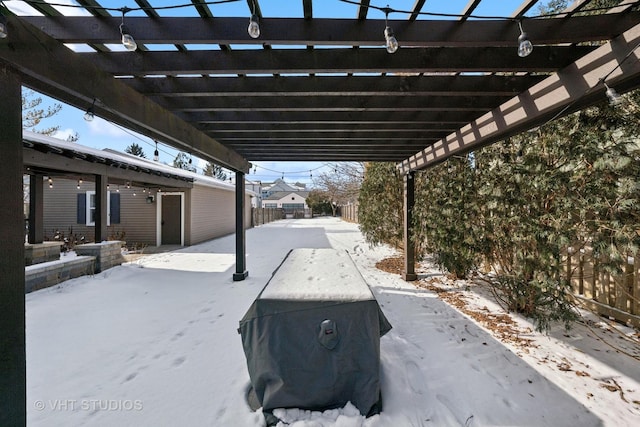
M 602 270 L 591 249 L 566 253 L 564 274 L 576 299 L 599 314 L 640 327 L 640 257 L 629 257 L 620 275 Z

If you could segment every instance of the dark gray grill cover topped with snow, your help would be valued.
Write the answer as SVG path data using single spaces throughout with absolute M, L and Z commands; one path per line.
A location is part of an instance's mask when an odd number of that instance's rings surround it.
M 391 325 L 346 252 L 295 249 L 240 321 L 263 412 L 353 403 L 380 411 L 380 337 Z

